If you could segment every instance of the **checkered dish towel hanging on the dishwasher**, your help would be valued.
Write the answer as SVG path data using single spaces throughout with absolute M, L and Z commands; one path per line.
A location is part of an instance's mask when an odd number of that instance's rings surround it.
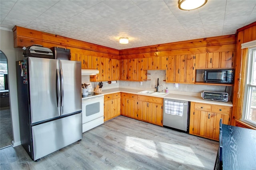
M 164 105 L 165 113 L 178 116 L 183 115 L 183 103 L 165 100 Z

